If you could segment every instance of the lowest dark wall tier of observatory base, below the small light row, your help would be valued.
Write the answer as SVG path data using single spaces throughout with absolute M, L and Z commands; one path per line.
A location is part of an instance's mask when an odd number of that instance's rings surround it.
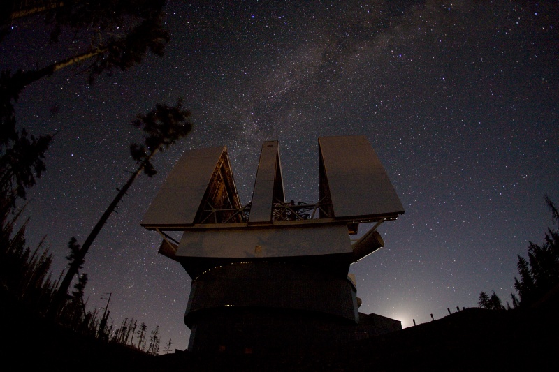
M 324 313 L 274 308 L 215 308 L 192 327 L 189 350 L 281 355 L 356 339 L 356 324 Z

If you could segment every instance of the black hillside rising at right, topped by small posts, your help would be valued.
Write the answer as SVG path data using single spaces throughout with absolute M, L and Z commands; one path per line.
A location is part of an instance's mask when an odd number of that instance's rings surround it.
M 468 308 L 351 343 L 321 364 L 335 371 L 559 371 L 558 332 L 550 309 Z

